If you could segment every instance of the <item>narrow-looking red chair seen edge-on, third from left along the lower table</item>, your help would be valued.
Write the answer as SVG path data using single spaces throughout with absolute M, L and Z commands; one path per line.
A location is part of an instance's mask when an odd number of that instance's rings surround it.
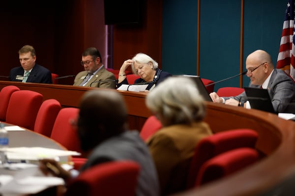
M 43 101 L 37 113 L 34 131 L 50 137 L 60 108 L 60 103 L 56 99 L 47 99 Z

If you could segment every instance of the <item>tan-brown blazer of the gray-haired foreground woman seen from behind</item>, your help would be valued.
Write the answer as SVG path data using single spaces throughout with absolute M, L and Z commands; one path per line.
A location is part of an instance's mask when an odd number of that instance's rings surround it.
M 147 141 L 160 182 L 161 195 L 183 191 L 194 149 L 204 137 L 212 135 L 207 123 L 163 127 Z

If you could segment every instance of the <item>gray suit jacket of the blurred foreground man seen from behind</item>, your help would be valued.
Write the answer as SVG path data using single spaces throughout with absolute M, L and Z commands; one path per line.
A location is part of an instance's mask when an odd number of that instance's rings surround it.
M 137 196 L 159 196 L 156 168 L 148 147 L 140 138 L 138 131 L 126 131 L 95 147 L 81 171 L 96 164 L 119 160 L 131 160 L 140 165 Z

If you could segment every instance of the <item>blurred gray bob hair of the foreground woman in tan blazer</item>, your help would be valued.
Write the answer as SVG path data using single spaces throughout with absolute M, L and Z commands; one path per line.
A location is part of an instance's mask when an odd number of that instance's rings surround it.
M 189 78 L 167 78 L 148 94 L 146 104 L 150 111 L 164 118 L 165 125 L 190 124 L 205 117 L 204 99 Z

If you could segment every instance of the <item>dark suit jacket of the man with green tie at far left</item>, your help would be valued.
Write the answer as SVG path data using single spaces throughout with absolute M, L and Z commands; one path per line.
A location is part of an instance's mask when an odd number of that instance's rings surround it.
M 18 76 L 22 76 L 24 73 L 25 71 L 22 67 L 12 68 L 9 73 L 10 81 L 21 82 L 23 78 Z M 51 72 L 45 67 L 35 64 L 28 76 L 27 82 L 52 84 Z

